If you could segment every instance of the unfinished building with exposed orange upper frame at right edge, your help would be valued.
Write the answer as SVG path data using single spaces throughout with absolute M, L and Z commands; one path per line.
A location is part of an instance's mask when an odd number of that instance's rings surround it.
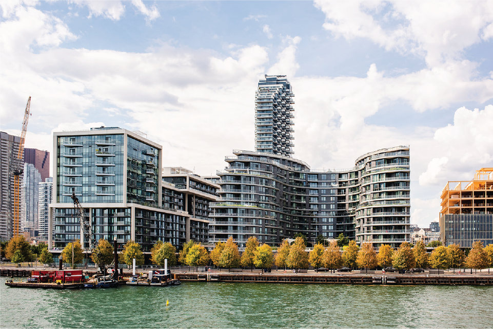
M 470 181 L 451 181 L 442 190 L 440 235 L 445 246 L 493 244 L 493 168 L 481 168 Z

